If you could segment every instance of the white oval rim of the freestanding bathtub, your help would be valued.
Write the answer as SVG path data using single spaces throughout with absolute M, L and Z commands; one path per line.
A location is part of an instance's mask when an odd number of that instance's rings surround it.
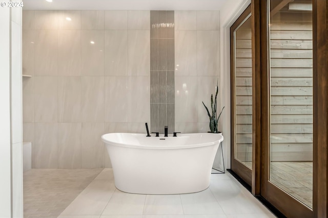
M 200 148 L 200 147 L 212 146 L 214 144 L 221 143 L 223 141 L 222 134 L 218 134 L 218 133 L 186 133 L 186 134 L 178 135 L 177 138 L 178 137 L 186 137 L 189 135 L 211 135 L 211 134 L 215 134 L 215 135 L 219 136 L 219 138 L 217 140 L 210 141 L 210 142 L 197 143 L 197 144 L 183 144 L 181 146 L 180 145 L 179 146 L 153 146 L 153 145 L 146 146 L 146 145 L 141 145 L 141 144 L 119 143 L 119 142 L 110 141 L 106 138 L 106 136 L 114 135 L 114 134 L 131 134 L 131 135 L 135 135 L 135 136 L 146 137 L 146 134 L 142 134 L 142 133 L 107 133 L 107 134 L 101 135 L 101 140 L 103 140 L 105 142 L 106 146 L 111 145 L 111 146 L 133 148 L 133 149 L 174 150 L 174 149 L 190 149 L 190 148 Z M 173 136 L 154 137 L 154 138 L 158 138 L 158 140 L 160 140 L 160 138 L 173 138 Z

